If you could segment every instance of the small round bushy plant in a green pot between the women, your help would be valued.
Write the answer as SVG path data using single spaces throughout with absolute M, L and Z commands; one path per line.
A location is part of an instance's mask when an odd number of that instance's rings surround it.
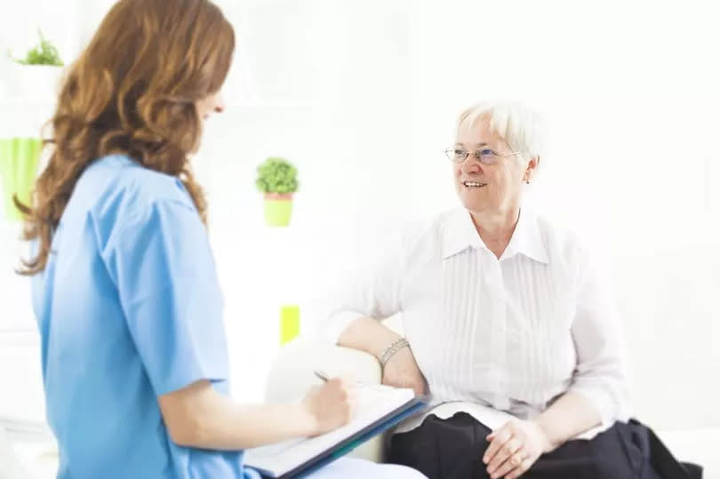
M 292 216 L 292 194 L 298 190 L 298 170 L 284 158 L 269 157 L 258 166 L 255 186 L 265 195 L 265 222 L 286 227 Z

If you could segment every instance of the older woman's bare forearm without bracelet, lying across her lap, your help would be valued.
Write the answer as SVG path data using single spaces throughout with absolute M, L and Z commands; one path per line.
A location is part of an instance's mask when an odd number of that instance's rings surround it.
M 602 423 L 600 412 L 584 395 L 565 393 L 535 418 L 548 440 L 557 447 Z

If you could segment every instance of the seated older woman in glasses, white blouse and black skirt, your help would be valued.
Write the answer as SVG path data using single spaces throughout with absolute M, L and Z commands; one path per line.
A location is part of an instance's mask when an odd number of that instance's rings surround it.
M 523 204 L 540 126 L 517 104 L 463 112 L 445 152 L 462 208 L 409 228 L 325 332 L 376 355 L 385 384 L 432 395 L 390 446 L 428 477 L 687 476 L 669 453 L 651 466 L 656 438 L 628 423 L 621 330 L 588 251 Z M 404 338 L 376 321 L 399 312 Z

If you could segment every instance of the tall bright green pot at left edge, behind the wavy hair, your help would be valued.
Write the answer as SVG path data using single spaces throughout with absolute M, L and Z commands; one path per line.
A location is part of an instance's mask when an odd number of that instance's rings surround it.
M 17 195 L 22 204 L 31 203 L 42 146 L 43 142 L 38 138 L 0 140 L 0 177 L 3 180 L 5 216 L 8 220 L 22 220 L 12 196 Z

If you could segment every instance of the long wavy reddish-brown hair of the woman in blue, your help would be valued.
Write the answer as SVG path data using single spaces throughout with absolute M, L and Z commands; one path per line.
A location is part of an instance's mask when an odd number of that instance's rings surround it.
M 49 164 L 36 180 L 25 240 L 39 242 L 22 275 L 42 271 L 52 234 L 89 164 L 124 154 L 185 184 L 203 221 L 206 203 L 188 164 L 199 147 L 197 102 L 218 92 L 235 50 L 235 33 L 209 0 L 120 0 L 68 69 L 49 122 Z

